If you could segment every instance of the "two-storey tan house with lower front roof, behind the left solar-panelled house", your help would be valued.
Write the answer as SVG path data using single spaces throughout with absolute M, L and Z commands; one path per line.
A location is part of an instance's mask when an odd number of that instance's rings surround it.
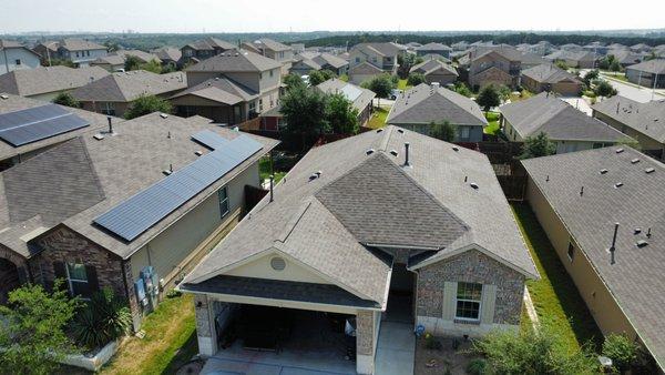
M 185 70 L 188 89 L 170 100 L 184 116 L 200 114 L 239 124 L 277 107 L 282 64 L 260 54 L 231 50 Z

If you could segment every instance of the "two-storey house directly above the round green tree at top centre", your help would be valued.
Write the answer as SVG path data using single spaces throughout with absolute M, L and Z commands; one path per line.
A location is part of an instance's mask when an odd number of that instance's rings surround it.
M 397 71 L 397 57 L 407 52 L 401 44 L 359 43 L 349 52 L 349 80 L 360 84 L 378 74 L 393 74 Z

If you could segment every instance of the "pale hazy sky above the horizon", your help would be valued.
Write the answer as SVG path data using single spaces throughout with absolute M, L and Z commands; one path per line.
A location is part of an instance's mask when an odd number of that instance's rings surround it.
M 663 0 L 0 0 L 0 33 L 655 28 L 665 28 Z

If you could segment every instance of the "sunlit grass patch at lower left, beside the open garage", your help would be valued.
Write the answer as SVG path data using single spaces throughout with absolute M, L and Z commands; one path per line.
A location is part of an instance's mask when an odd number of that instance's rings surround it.
M 143 339 L 124 341 L 101 374 L 174 374 L 198 353 L 194 297 L 165 298 L 143 321 Z

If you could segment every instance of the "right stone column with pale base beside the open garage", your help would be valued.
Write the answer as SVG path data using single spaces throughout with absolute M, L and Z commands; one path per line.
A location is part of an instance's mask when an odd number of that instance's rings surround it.
M 356 372 L 374 374 L 381 314 L 360 310 L 356 315 Z

